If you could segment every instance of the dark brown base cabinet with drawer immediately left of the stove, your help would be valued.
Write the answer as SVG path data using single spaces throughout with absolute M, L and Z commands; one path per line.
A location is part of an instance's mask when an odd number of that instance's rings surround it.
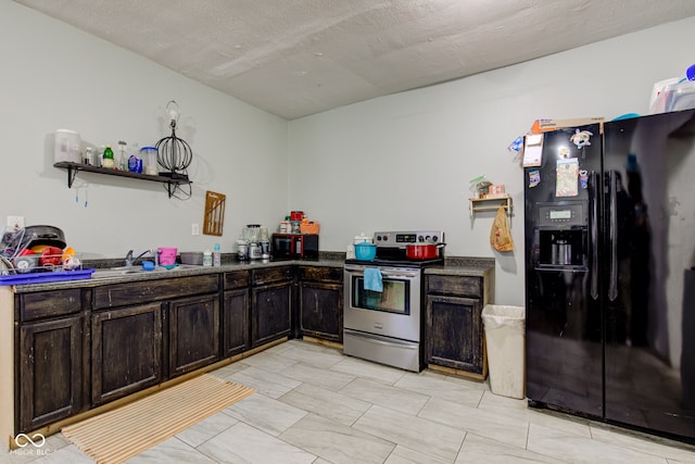
M 342 343 L 342 267 L 300 267 L 299 293 L 300 334 Z

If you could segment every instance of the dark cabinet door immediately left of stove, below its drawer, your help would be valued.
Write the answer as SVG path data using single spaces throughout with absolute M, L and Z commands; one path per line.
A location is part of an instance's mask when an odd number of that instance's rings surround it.
M 302 335 L 342 342 L 342 284 L 303 281 L 300 285 L 299 301 Z

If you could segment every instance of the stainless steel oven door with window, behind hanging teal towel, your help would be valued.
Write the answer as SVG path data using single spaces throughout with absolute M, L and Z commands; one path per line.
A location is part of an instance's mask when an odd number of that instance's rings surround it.
M 383 290 L 365 289 L 368 266 L 345 265 L 343 327 L 367 334 L 420 341 L 420 269 L 383 267 Z

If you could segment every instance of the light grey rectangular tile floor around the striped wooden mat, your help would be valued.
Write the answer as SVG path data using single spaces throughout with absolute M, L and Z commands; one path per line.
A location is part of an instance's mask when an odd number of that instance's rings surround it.
M 213 374 L 258 391 L 128 463 L 695 463 L 695 447 L 311 342 L 291 340 Z M 4 452 L 0 462 L 93 462 L 61 434 L 41 453 Z

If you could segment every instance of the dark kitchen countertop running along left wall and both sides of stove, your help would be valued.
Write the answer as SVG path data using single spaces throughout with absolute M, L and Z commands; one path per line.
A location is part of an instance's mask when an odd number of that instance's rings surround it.
M 88 278 L 78 280 L 61 280 L 50 283 L 25 284 L 14 286 L 15 293 L 28 293 L 43 290 L 56 290 L 65 288 L 86 288 L 111 285 L 116 283 L 156 280 L 163 278 L 187 277 L 204 274 L 218 274 L 235 271 L 256 269 L 265 267 L 305 265 L 305 266 L 328 266 L 343 267 L 345 261 L 344 253 L 326 253 L 317 260 L 258 260 L 258 261 L 237 261 L 233 254 L 223 256 L 222 266 L 198 266 L 176 268 L 172 271 L 153 271 L 135 274 L 124 274 L 111 277 Z M 92 267 L 86 263 L 86 267 Z M 118 264 L 93 263 L 100 267 L 115 266 Z M 439 266 L 425 268 L 425 275 L 452 275 L 452 276 L 473 276 L 490 277 L 494 272 L 495 260 L 493 258 L 446 258 L 445 263 Z

